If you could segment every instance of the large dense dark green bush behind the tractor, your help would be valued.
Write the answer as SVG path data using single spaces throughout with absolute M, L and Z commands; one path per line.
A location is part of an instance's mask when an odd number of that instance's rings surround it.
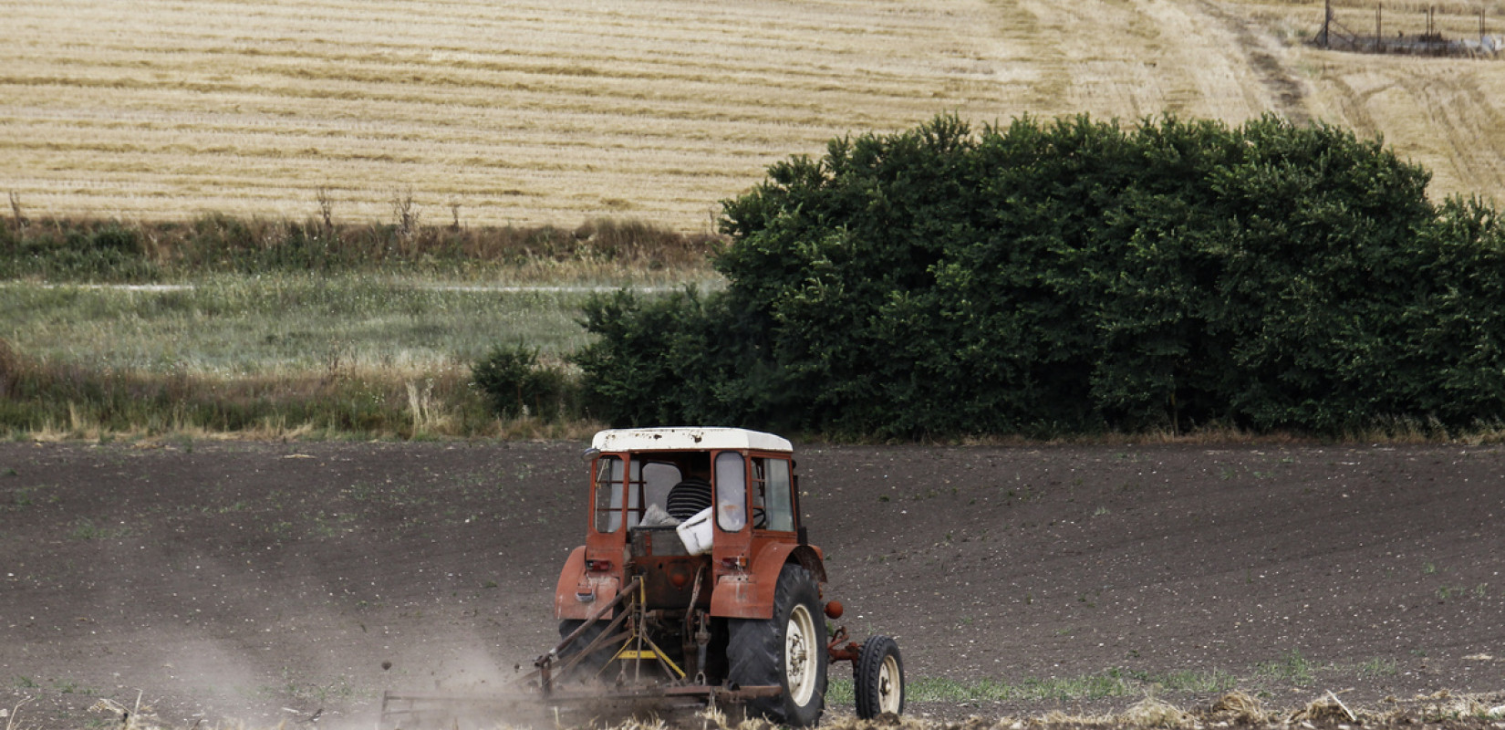
M 938 117 L 725 203 L 725 292 L 596 301 L 597 415 L 880 436 L 1505 414 L 1493 209 L 1380 141 Z

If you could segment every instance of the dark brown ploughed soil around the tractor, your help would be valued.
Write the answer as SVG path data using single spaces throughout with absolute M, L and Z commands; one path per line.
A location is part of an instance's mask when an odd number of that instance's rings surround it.
M 343 725 L 384 688 L 495 688 L 555 638 L 582 447 L 0 444 L 0 704 Z M 898 638 L 918 716 L 1505 689 L 1500 449 L 814 446 L 799 470 L 826 595 Z M 1013 689 L 945 700 L 984 679 Z

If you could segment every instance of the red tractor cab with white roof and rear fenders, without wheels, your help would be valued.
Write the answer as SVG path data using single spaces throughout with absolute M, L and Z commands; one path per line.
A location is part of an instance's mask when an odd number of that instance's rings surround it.
M 584 619 L 590 604 L 614 598 L 635 575 L 647 608 L 685 610 L 695 599 L 712 616 L 743 617 L 757 607 L 730 595 L 712 607 L 713 586 L 756 581 L 749 567 L 765 554 L 783 563 L 799 551 L 796 560 L 823 578 L 820 552 L 799 549 L 792 453 L 787 440 L 743 429 L 597 433 L 585 452 L 591 510 L 582 570 L 573 586 L 561 582 L 570 590 L 557 595 L 558 617 Z

